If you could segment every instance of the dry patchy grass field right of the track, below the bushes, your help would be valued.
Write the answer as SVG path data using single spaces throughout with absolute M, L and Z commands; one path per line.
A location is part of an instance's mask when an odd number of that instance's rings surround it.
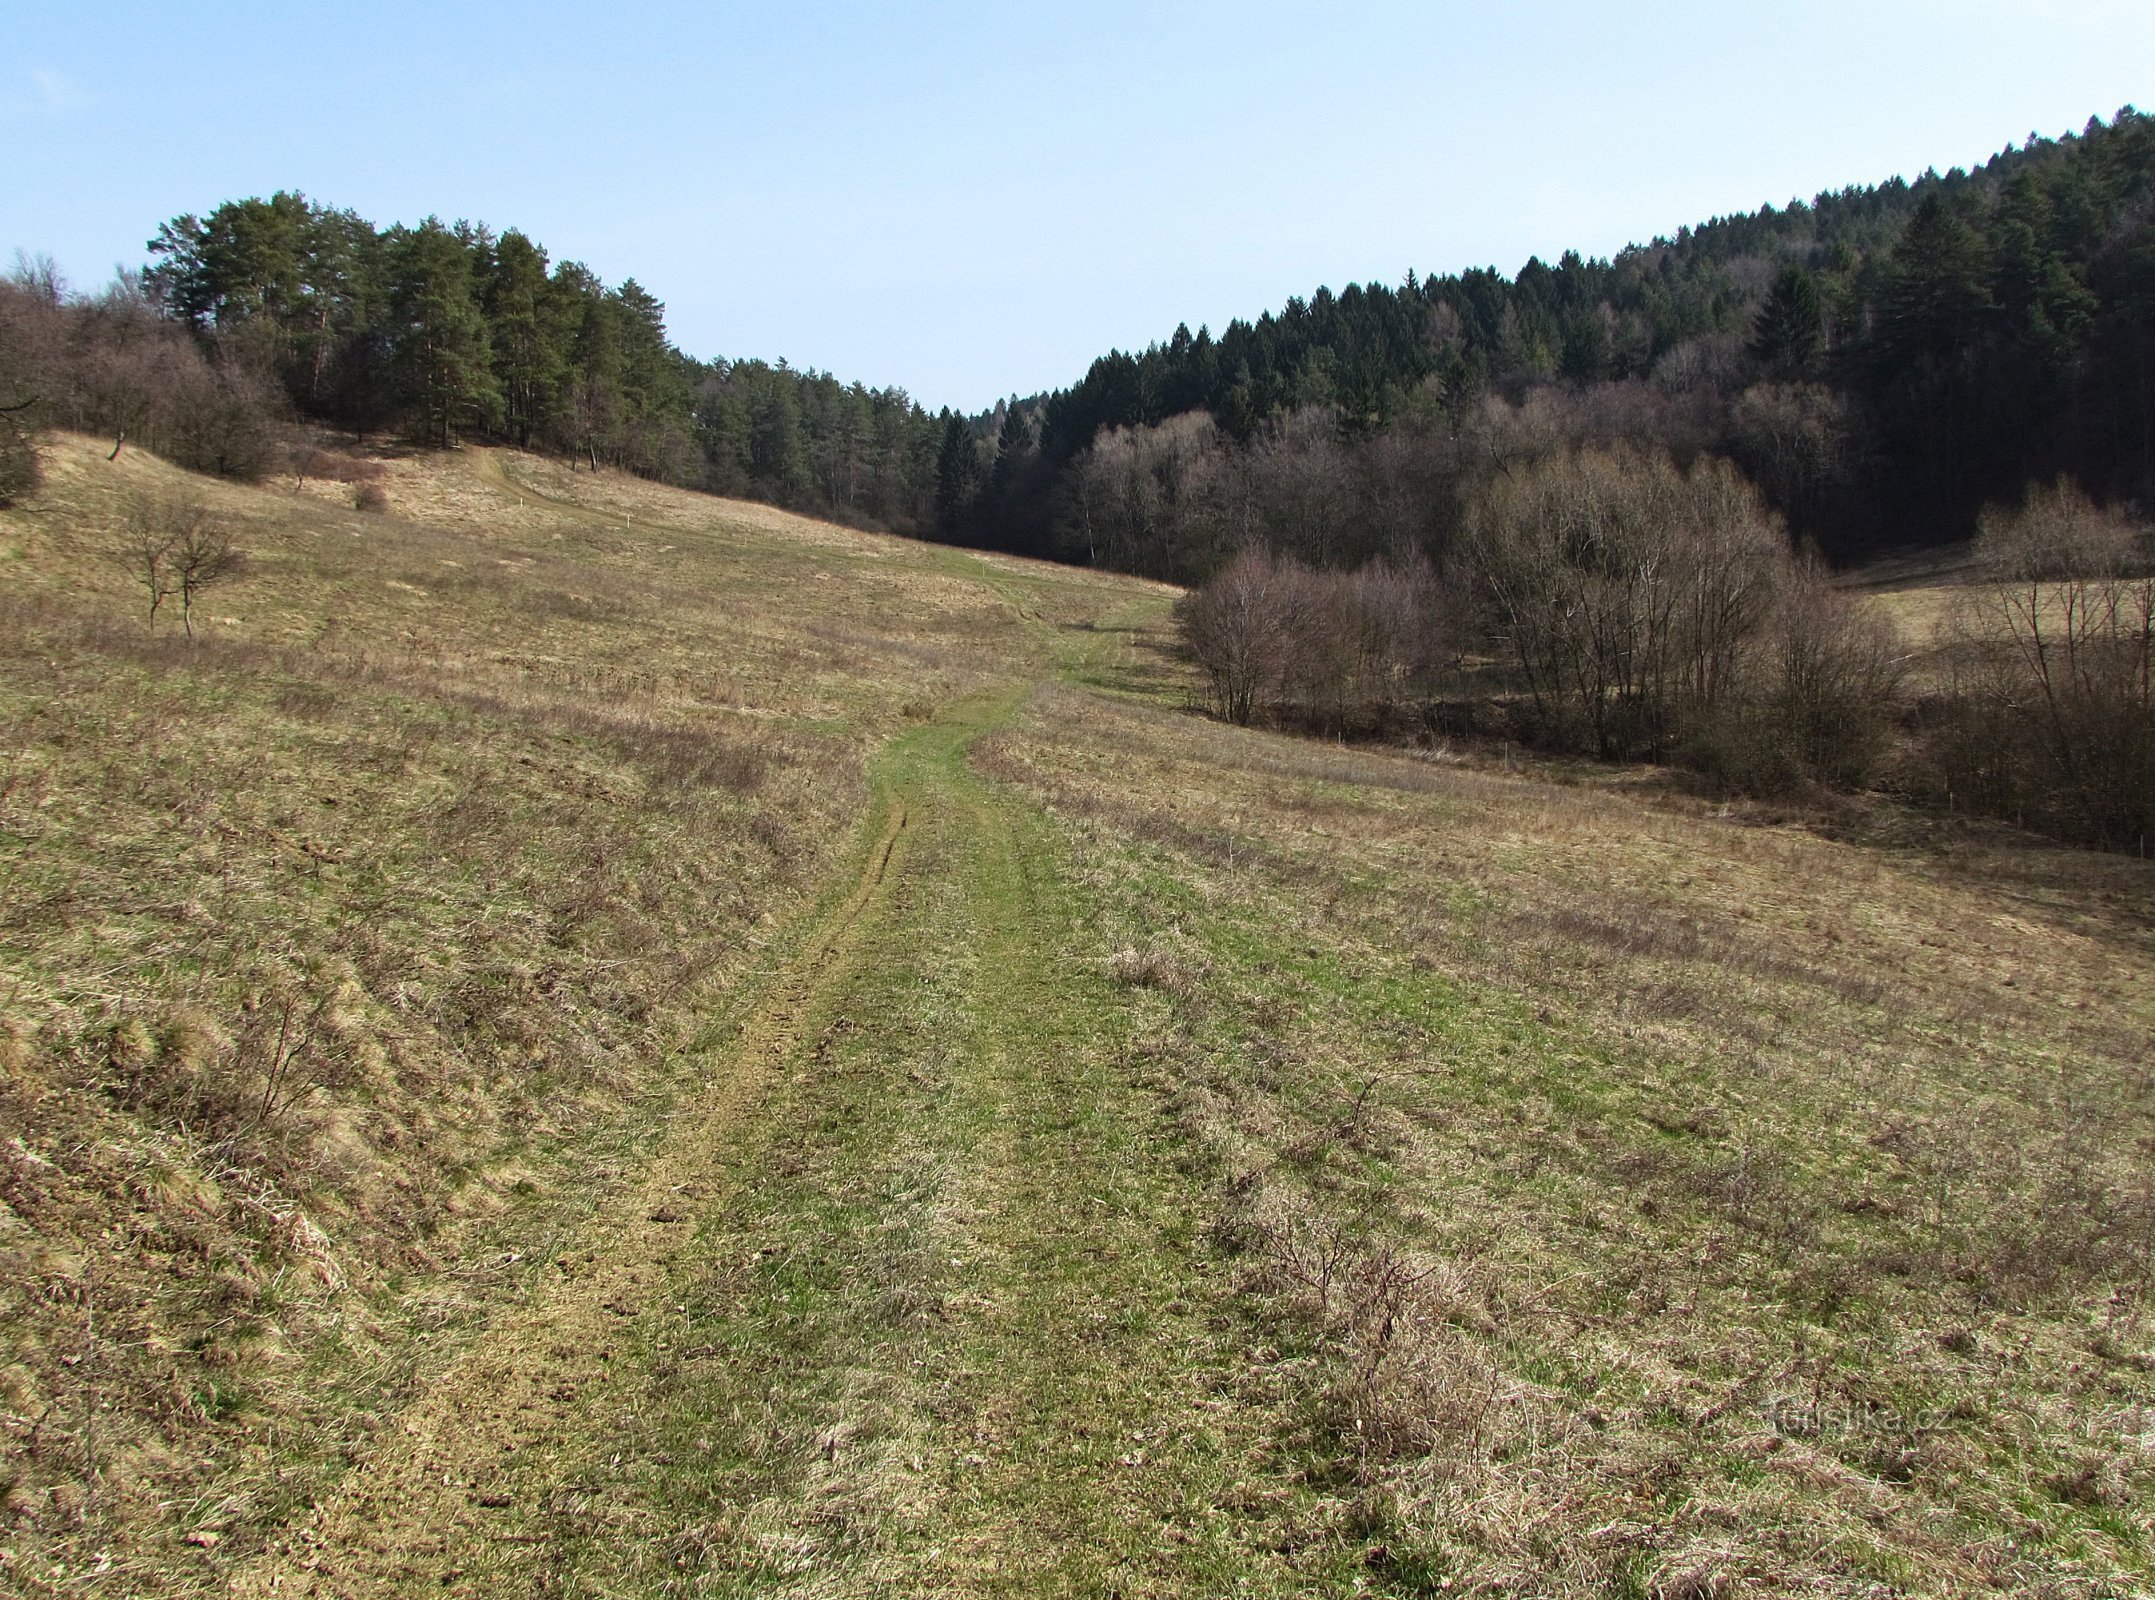
M 2140 1589 L 2144 865 L 1855 847 L 1067 694 L 978 759 L 1084 841 L 1388 1561 Z

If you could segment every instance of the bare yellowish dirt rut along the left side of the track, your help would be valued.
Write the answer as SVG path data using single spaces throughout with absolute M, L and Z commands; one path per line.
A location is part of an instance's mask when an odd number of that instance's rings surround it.
M 698 1042 L 709 1057 L 705 1091 L 675 1115 L 642 1182 L 586 1223 L 550 1281 L 384 1430 L 340 1492 L 233 1581 L 235 1594 L 440 1589 L 461 1576 L 472 1550 L 517 1537 L 513 1484 L 550 1477 L 567 1440 L 588 1425 L 580 1399 L 610 1367 L 623 1322 L 677 1268 L 696 1218 L 737 1184 L 728 1158 L 741 1130 L 843 975 L 905 830 L 903 796 L 884 791 L 851 886 L 812 916 L 737 1042 Z

